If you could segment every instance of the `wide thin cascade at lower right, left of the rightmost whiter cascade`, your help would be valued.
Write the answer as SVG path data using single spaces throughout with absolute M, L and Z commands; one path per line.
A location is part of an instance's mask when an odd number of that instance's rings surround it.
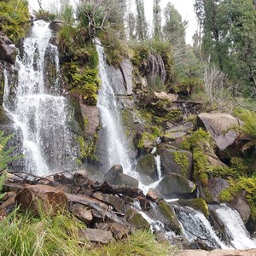
M 209 247 L 229 248 L 221 241 L 212 229 L 207 218 L 201 213 L 189 207 L 173 206 L 177 218 L 182 224 L 183 234 L 189 241 L 195 241 L 200 238 Z

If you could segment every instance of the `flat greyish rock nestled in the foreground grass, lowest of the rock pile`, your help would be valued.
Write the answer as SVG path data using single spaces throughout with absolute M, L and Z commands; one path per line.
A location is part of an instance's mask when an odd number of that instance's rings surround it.
M 86 238 L 89 241 L 99 242 L 106 244 L 113 240 L 113 235 L 110 231 L 96 230 L 96 229 L 84 229 L 80 230 L 79 236 Z

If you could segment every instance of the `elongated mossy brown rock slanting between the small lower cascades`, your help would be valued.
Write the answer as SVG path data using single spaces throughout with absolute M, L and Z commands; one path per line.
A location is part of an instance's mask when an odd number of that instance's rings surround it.
M 182 227 L 176 217 L 176 215 L 172 212 L 172 208 L 167 205 L 165 200 L 160 200 L 158 207 L 160 212 L 169 220 L 169 225 L 171 225 L 171 229 L 177 234 L 182 234 Z

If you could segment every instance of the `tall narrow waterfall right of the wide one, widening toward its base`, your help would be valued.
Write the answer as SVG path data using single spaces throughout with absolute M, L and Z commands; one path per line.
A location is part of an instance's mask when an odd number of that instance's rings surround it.
M 99 56 L 98 70 L 101 79 L 97 108 L 99 108 L 100 112 L 101 125 L 105 137 L 105 150 L 108 158 L 108 166 L 104 167 L 109 169 L 113 165 L 121 165 L 125 174 L 134 176 L 135 172 L 131 170 L 131 161 L 125 146 L 126 138 L 119 117 L 119 107 L 108 78 L 104 50 L 98 39 L 96 39 L 96 50 Z

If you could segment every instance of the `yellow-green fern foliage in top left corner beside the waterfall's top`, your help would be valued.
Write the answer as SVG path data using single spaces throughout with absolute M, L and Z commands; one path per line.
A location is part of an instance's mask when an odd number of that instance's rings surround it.
M 30 19 L 26 0 L 0 2 L 1 31 L 15 43 L 25 36 Z

